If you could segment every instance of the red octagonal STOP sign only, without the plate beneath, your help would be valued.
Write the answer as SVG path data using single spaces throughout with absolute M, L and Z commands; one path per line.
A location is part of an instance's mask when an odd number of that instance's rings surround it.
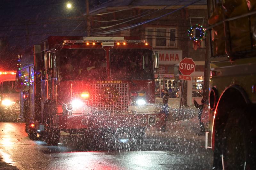
M 196 64 L 192 58 L 183 58 L 180 61 L 179 70 L 180 70 L 180 73 L 184 75 L 190 75 L 194 73 L 195 68 L 196 68 Z

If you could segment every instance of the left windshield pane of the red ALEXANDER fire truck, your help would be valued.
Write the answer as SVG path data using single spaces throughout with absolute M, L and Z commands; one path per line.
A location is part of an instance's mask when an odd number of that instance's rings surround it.
M 106 52 L 103 49 L 62 49 L 56 54 L 60 80 L 105 80 Z

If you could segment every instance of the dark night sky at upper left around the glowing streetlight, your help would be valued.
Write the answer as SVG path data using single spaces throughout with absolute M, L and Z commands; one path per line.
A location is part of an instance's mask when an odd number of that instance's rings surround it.
M 90 1 L 90 9 L 97 4 Z M 1 0 L 0 70 L 15 69 L 17 54 L 48 36 L 86 35 L 85 13 L 85 0 Z

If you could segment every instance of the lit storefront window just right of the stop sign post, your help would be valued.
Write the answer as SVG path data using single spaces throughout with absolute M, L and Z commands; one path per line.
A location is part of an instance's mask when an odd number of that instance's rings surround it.
M 203 97 L 203 86 L 204 86 L 204 77 L 193 76 L 192 77 L 192 97 Z

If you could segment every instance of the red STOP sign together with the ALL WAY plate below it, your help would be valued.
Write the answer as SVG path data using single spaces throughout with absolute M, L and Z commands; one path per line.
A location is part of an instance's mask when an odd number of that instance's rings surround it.
M 190 74 L 194 73 L 196 64 L 192 58 L 183 58 L 180 61 L 179 70 L 182 75 L 179 75 L 180 80 L 191 80 Z

